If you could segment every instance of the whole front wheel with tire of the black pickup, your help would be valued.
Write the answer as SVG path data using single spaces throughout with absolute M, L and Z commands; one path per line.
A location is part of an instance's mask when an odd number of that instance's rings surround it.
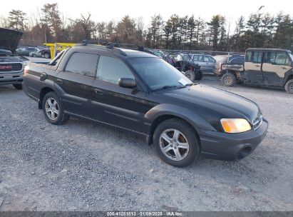
M 175 134 L 179 135 L 178 140 L 174 138 Z M 200 158 L 200 142 L 194 129 L 178 118 L 171 118 L 160 123 L 155 128 L 153 141 L 159 158 L 172 166 L 189 166 Z M 184 148 L 180 146 L 184 146 Z M 168 148 L 169 151 L 167 151 L 168 149 L 163 151 L 163 148 Z

